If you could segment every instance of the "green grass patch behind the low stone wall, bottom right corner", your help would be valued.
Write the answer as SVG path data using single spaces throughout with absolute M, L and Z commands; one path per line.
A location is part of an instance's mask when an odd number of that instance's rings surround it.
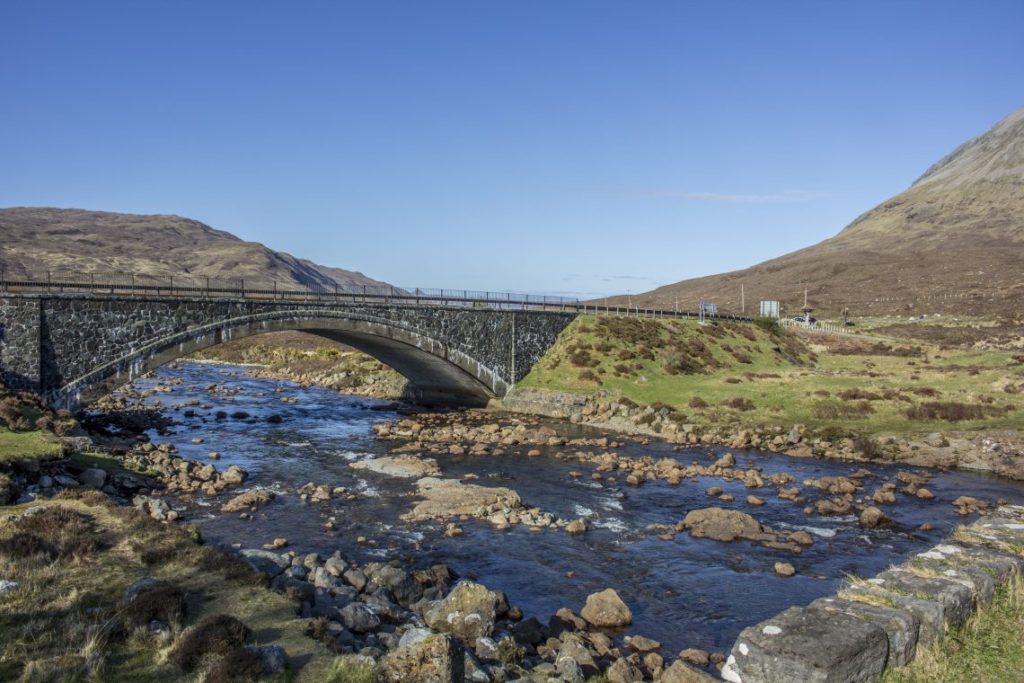
M 1019 681 L 1024 672 L 1024 581 L 1000 587 L 992 603 L 943 641 L 919 650 L 883 683 Z

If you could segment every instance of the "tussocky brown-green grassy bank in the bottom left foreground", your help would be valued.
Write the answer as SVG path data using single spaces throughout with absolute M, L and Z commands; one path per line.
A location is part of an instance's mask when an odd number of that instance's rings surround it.
M 345 680 L 331 674 L 344 669 L 336 657 L 305 635 L 295 603 L 266 589 L 262 574 L 99 493 L 0 507 L 0 577 L 17 584 L 0 593 L 2 680 L 254 678 L 237 645 L 189 653 L 189 634 L 216 615 L 248 627 L 249 643 L 280 645 L 302 664 L 278 680 Z M 129 602 L 143 578 L 159 590 Z M 152 629 L 154 620 L 167 632 Z

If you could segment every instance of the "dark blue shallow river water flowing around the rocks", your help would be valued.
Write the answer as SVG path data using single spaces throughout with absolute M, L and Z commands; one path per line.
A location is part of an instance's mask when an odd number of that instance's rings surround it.
M 486 522 L 465 522 L 464 536 L 445 538 L 441 524 L 413 525 L 399 519 L 415 500 L 413 480 L 349 467 L 353 461 L 387 454 L 401 444 L 379 440 L 372 431 L 378 421 L 400 419 L 387 403 L 254 379 L 238 367 L 193 362 L 161 369 L 134 388 L 167 386 L 173 380 L 182 383 L 173 386 L 170 393 L 145 399 L 169 407 L 167 415 L 176 421 L 170 435 L 151 433 L 154 441 L 171 441 L 181 456 L 204 462 L 209 452 L 217 451 L 222 454 L 219 469 L 237 463 L 249 470 L 247 487 L 266 486 L 286 494 L 261 509 L 252 521 L 216 513 L 217 502 L 197 499 L 200 507 L 186 517 L 201 525 L 208 540 L 258 548 L 275 537 L 285 537 L 289 549 L 299 552 L 330 554 L 341 549 L 360 561 L 388 558 L 414 565 L 443 561 L 462 577 L 505 591 L 511 604 L 541 621 L 563 606 L 579 612 L 589 593 L 611 587 L 633 609 L 630 632 L 662 641 L 665 652 L 683 647 L 727 650 L 743 627 L 835 591 L 847 574 L 869 577 L 938 543 L 953 526 L 970 520 L 957 515 L 950 505 L 958 496 L 1024 502 L 1024 487 L 1019 483 L 937 472 L 928 484 L 935 500 L 897 494 L 899 503 L 885 506 L 894 524 L 865 530 L 853 517 L 808 517 L 803 505 L 777 499 L 772 488 L 755 492 L 767 501 L 764 507 L 749 508 L 742 501 L 751 492 L 742 482 L 709 478 L 687 479 L 678 486 L 664 481 L 648 481 L 639 487 L 609 485 L 592 481 L 587 476 L 589 467 L 557 460 L 547 451 L 540 458 L 527 458 L 527 449 L 535 446 L 523 446 L 498 457 L 438 457 L 441 476 L 475 473 L 479 476 L 475 483 L 514 488 L 529 506 L 566 519 L 587 517 L 591 530 L 570 537 L 555 529 L 530 532 L 514 526 L 497 530 Z M 211 393 L 211 384 L 240 392 L 233 396 Z M 285 403 L 283 396 L 298 400 Z M 184 410 L 173 408 L 190 399 L 211 408 L 191 407 L 195 417 L 184 417 Z M 217 420 L 217 411 L 244 411 L 252 418 Z M 271 414 L 281 415 L 283 421 L 267 423 Z M 560 433 L 583 433 L 568 432 L 574 429 L 569 425 L 558 424 L 557 428 Z M 193 443 L 196 437 L 203 442 Z M 738 467 L 758 467 L 765 474 L 790 472 L 798 482 L 849 475 L 862 467 L 859 463 L 731 451 Z M 671 444 L 641 445 L 629 439 L 618 449 L 622 455 L 669 456 L 684 464 L 708 464 L 724 452 L 710 447 L 677 452 Z M 572 469 L 583 470 L 585 476 L 570 479 L 567 473 Z M 898 471 L 878 465 L 868 469 L 874 474 L 867 479 L 868 493 Z M 295 488 L 309 481 L 345 486 L 357 492 L 358 499 L 302 503 Z M 705 493 L 711 485 L 734 494 L 736 502 L 714 502 Z M 690 539 L 685 533 L 663 541 L 647 528 L 652 523 L 674 524 L 687 511 L 711 505 L 743 510 L 775 529 L 806 529 L 814 536 L 814 545 L 793 555 L 742 541 L 723 544 Z M 335 527 L 326 530 L 323 524 L 332 515 Z M 933 524 L 933 530 L 921 531 L 924 522 Z M 373 545 L 357 544 L 360 536 Z M 780 560 L 791 562 L 797 575 L 777 577 L 773 564 Z

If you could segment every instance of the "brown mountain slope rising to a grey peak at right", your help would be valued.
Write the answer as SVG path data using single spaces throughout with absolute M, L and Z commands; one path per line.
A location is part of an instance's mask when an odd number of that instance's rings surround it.
M 932 166 L 906 191 L 835 238 L 753 267 L 634 295 L 637 305 L 756 312 L 778 299 L 792 314 L 849 307 L 879 313 L 1024 314 L 1024 109 Z M 618 297 L 622 301 L 623 297 Z

